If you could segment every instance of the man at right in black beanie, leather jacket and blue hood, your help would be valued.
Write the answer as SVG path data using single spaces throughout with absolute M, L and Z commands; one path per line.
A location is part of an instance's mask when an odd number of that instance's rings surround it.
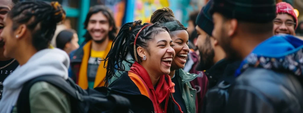
M 224 111 L 302 113 L 303 41 L 287 34 L 273 36 L 276 2 L 214 0 L 210 12 L 212 36 L 226 58 L 243 60 Z

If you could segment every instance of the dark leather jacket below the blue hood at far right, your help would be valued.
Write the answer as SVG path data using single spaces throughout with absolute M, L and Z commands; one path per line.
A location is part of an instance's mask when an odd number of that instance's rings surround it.
M 231 86 L 226 113 L 303 113 L 303 89 L 288 73 L 249 67 Z

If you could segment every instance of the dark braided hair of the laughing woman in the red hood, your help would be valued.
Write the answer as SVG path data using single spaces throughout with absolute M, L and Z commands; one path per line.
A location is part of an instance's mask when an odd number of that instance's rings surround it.
M 111 79 L 113 76 L 117 77 L 115 75 L 115 70 L 125 71 L 125 66 L 122 64 L 122 61 L 126 61 L 125 58 L 128 53 L 130 53 L 132 55 L 132 58 L 135 59 L 135 53 L 134 53 L 135 37 L 139 32 L 139 30 L 141 30 L 141 28 L 143 28 L 145 25 L 148 24 L 149 23 L 145 23 L 142 25 L 142 20 L 138 20 L 135 22 L 126 23 L 121 27 L 117 37 L 113 41 L 111 50 L 108 52 L 108 55 L 105 58 L 105 62 L 108 61 L 106 67 L 107 72 L 105 78 L 105 86 L 107 86 L 109 79 Z M 138 34 L 136 40 L 136 48 L 140 46 L 149 50 L 148 42 L 151 41 L 154 38 L 154 36 L 157 35 L 158 33 L 165 31 L 169 32 L 169 30 L 166 27 L 162 27 L 158 23 L 155 23 L 153 25 L 144 28 Z M 138 60 L 141 61 L 138 53 L 136 53 L 136 55 Z M 129 61 L 127 62 L 129 64 L 132 64 Z

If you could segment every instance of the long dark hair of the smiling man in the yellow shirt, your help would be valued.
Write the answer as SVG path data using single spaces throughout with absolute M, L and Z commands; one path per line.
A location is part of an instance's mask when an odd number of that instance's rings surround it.
M 102 12 L 102 14 L 105 17 L 107 17 L 107 19 L 109 21 L 109 26 L 113 27 L 112 30 L 109 31 L 108 35 L 109 35 L 110 40 L 114 40 L 116 31 L 118 30 L 118 28 L 116 27 L 115 18 L 113 16 L 111 10 L 109 8 L 107 8 L 106 6 L 104 6 L 104 5 L 95 5 L 95 6 L 93 6 L 92 8 L 89 9 L 88 14 L 86 15 L 85 22 L 84 22 L 84 29 L 87 28 L 88 21 L 91 18 L 91 16 L 93 14 L 98 13 L 98 12 Z M 86 31 L 84 37 L 85 37 L 85 42 L 88 42 L 89 40 L 92 39 L 92 36 L 88 33 L 88 31 Z

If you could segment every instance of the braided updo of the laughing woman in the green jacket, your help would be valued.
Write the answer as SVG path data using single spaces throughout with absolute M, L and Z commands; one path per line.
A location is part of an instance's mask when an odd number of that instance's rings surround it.
M 151 15 L 151 23 L 166 23 L 166 22 L 172 22 L 172 21 L 177 21 L 177 23 L 183 28 L 187 29 L 184 27 L 183 24 L 178 21 L 174 15 L 174 12 L 170 8 L 161 8 L 156 10 L 152 15 Z

